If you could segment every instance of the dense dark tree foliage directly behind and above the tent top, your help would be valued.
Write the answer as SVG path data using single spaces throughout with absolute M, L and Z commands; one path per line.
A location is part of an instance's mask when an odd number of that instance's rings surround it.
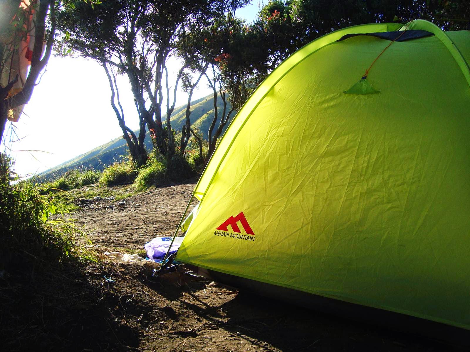
M 355 24 L 412 19 L 430 20 L 444 30 L 462 30 L 469 26 L 470 2 L 270 0 L 253 23 L 231 36 L 220 60 L 225 89 L 236 97 L 238 110 L 269 72 L 310 41 Z

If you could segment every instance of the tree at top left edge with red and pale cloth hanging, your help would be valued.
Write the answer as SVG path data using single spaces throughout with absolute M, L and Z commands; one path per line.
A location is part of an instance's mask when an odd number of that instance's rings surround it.
M 93 6 L 100 1 L 84 3 Z M 71 1 L 60 0 L 5 0 L 0 4 L 0 142 L 8 119 L 19 118 L 49 61 L 57 8 L 73 6 Z

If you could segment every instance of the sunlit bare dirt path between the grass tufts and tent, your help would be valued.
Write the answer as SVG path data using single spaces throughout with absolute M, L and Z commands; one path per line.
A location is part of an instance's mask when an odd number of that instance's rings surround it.
M 94 244 L 143 251 L 152 238 L 173 236 L 196 182 L 154 188 L 121 201 L 82 200 L 85 207 L 73 217 Z

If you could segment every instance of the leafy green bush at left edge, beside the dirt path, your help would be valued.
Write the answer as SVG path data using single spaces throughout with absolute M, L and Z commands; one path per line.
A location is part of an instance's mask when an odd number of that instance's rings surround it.
M 60 205 L 30 182 L 11 185 L 9 165 L 0 154 L 0 268 L 16 270 L 78 253 L 78 242 L 89 243 L 83 232 L 63 218 L 49 220 Z

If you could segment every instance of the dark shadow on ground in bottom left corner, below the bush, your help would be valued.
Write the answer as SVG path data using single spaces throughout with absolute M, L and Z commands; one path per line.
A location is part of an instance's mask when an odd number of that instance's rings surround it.
M 137 347 L 132 327 L 119 323 L 112 276 L 98 264 L 31 268 L 0 279 L 2 351 L 119 351 Z M 24 271 L 23 271 L 24 272 Z

